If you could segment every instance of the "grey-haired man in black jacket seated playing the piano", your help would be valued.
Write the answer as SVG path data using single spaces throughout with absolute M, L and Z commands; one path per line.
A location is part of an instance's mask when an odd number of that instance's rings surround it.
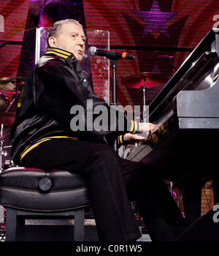
M 86 178 L 100 241 L 135 241 L 141 237 L 130 201 L 137 202 L 153 241 L 174 241 L 185 229 L 184 219 L 163 179 L 150 166 L 118 157 L 108 141 L 140 141 L 155 127 L 123 118 L 106 129 L 73 131 L 74 105 L 88 108 L 106 102 L 96 96 L 80 63 L 85 34 L 76 20 L 61 20 L 47 38 L 47 53 L 31 71 L 13 124 L 12 159 L 16 165 L 60 168 Z M 94 114 L 93 114 L 94 115 Z M 93 118 L 94 120 L 95 118 Z M 110 129 L 112 128 L 113 129 Z M 74 200 L 74 199 L 72 199 Z

